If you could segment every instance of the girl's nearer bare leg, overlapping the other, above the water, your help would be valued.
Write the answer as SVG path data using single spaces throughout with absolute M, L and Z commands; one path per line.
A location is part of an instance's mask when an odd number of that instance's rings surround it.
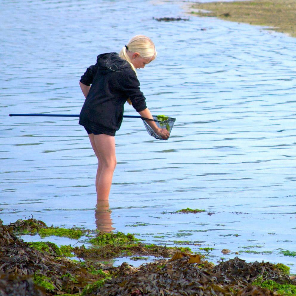
M 112 177 L 116 166 L 115 137 L 106 134 L 93 135 L 94 147 L 98 153 L 96 191 L 98 200 L 109 199 Z

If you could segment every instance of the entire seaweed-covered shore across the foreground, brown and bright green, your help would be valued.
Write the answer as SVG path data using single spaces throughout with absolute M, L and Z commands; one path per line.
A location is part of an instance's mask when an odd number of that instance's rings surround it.
M 73 237 L 89 230 L 47 227 L 35 219 L 0 223 L 0 295 L 296 295 L 289 267 L 235 257 L 214 265 L 189 249 L 145 245 L 132 234 L 90 235 L 92 247 L 24 242 L 18 234 Z M 77 237 L 77 236 L 76 236 Z M 71 260 L 75 255 L 78 260 Z M 114 267 L 112 258 L 152 255 L 155 262 Z

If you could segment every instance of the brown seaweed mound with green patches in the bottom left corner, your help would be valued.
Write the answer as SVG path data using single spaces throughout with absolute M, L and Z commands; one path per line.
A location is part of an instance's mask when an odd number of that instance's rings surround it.
M 82 266 L 62 256 L 55 244 L 42 244 L 48 246 L 47 251 L 19 239 L 12 226 L 0 225 L 0 287 L 15 286 L 13 291 L 22 291 L 17 294 L 1 288 L 1 296 L 40 295 L 38 286 L 46 295 L 80 293 L 87 284 L 104 277 L 89 272 L 86 264 Z

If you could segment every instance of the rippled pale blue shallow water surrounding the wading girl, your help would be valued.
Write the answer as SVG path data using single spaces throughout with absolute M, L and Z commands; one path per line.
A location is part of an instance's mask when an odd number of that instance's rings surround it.
M 188 16 L 182 5 L 1 2 L 0 218 L 189 241 L 193 251 L 215 248 L 213 262 L 295 264 L 280 251 L 296 251 L 296 39 Z M 189 21 L 153 19 L 164 16 Z M 78 119 L 8 114 L 78 114 L 86 67 L 135 34 L 158 50 L 138 71 L 147 105 L 177 120 L 168 141 L 150 137 L 139 119 L 124 120 L 106 213 L 95 210 L 96 158 Z M 125 114 L 137 115 L 128 105 Z M 186 207 L 206 212 L 172 213 Z

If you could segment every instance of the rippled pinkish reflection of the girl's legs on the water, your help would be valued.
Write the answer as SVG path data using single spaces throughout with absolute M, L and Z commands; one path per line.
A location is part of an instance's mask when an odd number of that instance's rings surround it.
M 97 224 L 97 229 L 100 231 L 111 232 L 115 229 L 112 227 L 111 210 L 109 210 L 108 200 L 97 200 L 95 223 Z

